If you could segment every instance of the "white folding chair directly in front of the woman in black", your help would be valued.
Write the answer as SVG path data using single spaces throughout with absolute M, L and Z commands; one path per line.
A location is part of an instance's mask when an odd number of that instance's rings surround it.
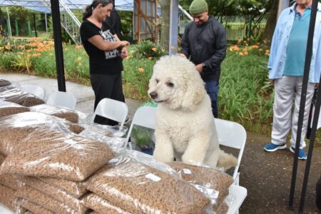
M 128 115 L 128 107 L 126 103 L 121 101 L 116 101 L 111 98 L 103 98 L 99 101 L 96 110 L 93 113 L 93 118 L 91 119 L 92 123 L 96 115 L 117 121 L 121 123 L 121 127 L 123 127 Z

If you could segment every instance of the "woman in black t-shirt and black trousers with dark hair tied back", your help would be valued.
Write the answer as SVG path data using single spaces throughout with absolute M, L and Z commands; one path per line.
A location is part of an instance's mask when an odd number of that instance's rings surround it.
M 121 59 L 128 56 L 126 46 L 129 43 L 121 41 L 111 26 L 104 22 L 112 9 L 112 0 L 93 0 L 83 13 L 80 29 L 83 48 L 89 56 L 91 86 L 95 93 L 94 110 L 103 98 L 123 101 Z M 111 126 L 117 124 L 101 116 L 96 116 L 94 122 Z

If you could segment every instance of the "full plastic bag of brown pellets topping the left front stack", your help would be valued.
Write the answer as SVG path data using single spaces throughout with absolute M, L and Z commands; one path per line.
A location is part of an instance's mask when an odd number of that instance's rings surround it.
M 1 173 L 83 181 L 114 154 L 106 144 L 82 136 L 37 128 L 2 163 Z

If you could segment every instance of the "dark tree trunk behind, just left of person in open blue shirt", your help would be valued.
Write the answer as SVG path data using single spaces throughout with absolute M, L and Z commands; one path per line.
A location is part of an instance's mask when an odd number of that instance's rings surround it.
M 272 0 L 272 5 L 270 7 L 269 16 L 267 17 L 267 22 L 263 34 L 263 40 L 267 40 L 269 43 L 272 40 L 274 29 L 277 22 L 277 6 L 279 5 L 279 0 Z

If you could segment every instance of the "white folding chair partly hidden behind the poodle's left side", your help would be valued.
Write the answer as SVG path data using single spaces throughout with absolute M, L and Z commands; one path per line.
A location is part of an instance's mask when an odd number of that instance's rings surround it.
M 127 133 L 127 138 L 126 138 L 126 145 L 129 146 L 129 149 L 132 150 L 131 142 L 129 141 L 129 138 L 131 137 L 131 131 L 133 131 L 133 126 L 143 126 L 146 128 L 156 128 L 156 123 L 155 123 L 155 114 L 156 114 L 156 107 L 151 107 L 151 106 L 142 106 L 138 108 L 133 116 L 133 120 L 131 121 L 131 127 L 129 128 L 129 131 Z

